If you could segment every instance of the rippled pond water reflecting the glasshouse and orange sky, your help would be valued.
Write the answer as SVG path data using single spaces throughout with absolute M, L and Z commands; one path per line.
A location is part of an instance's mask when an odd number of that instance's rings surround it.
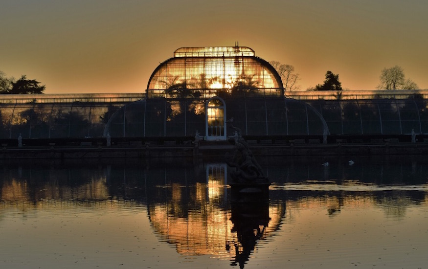
M 427 268 L 427 157 L 259 162 L 237 205 L 221 160 L 3 161 L 0 266 Z

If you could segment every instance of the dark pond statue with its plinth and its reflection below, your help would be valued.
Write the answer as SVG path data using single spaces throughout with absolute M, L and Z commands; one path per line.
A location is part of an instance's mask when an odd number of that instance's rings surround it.
M 228 138 L 235 145 L 233 157 L 226 163 L 234 167 L 230 171 L 231 205 L 233 223 L 232 232 L 238 242 L 227 242 L 226 250 L 235 250 L 235 259 L 230 265 L 244 268 L 258 240 L 263 237 L 268 227 L 269 218 L 269 181 L 263 175 L 262 168 L 256 161 L 247 142 L 241 135 L 241 129 L 232 125 L 233 118 L 227 121 L 235 134 Z M 232 170 L 232 169 L 231 169 Z

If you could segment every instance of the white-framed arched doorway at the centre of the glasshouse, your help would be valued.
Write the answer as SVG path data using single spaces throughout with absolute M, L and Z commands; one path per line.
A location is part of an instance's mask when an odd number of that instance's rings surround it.
M 220 97 L 208 99 L 205 106 L 206 139 L 226 140 L 226 106 Z

